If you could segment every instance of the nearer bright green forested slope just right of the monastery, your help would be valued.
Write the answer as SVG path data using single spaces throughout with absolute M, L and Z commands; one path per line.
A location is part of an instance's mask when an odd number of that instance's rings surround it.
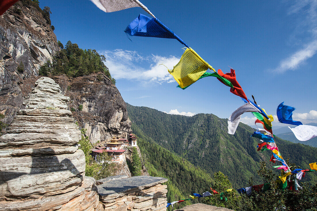
M 131 129 L 138 134 L 138 146 L 141 150 L 146 169 L 151 176 L 168 178 L 167 201 L 187 199 L 193 193 L 209 191 L 214 184 L 213 176 L 186 159 L 156 144 L 153 139 L 133 124 Z M 201 200 L 200 200 L 201 201 Z M 174 205 L 174 208 L 197 203 L 198 199 Z M 169 208 L 169 210 L 173 210 Z

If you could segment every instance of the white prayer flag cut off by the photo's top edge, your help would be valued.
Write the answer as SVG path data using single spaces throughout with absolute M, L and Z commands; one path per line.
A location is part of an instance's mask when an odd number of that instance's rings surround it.
M 138 0 L 90 0 L 92 1 L 100 10 L 104 12 L 115 12 L 120 10 L 125 10 L 133 7 L 141 7 L 148 14 L 155 16 Z

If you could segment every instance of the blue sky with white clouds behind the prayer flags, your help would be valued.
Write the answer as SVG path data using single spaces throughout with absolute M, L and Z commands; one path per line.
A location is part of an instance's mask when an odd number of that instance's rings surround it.
M 247 97 L 253 94 L 268 114 L 276 115 L 277 105 L 285 101 L 297 108 L 294 120 L 317 122 L 317 0 L 141 2 L 216 70 L 234 68 Z M 131 105 L 221 118 L 243 105 L 214 77 L 186 90 L 176 88 L 159 64 L 172 68 L 184 46 L 164 38 L 130 41 L 124 33 L 139 13 L 148 15 L 141 8 L 105 13 L 89 0 L 40 0 L 44 6 L 51 9 L 57 40 L 106 56 L 117 88 Z M 246 113 L 242 121 L 252 125 L 254 117 Z M 273 125 L 284 126 L 277 118 Z

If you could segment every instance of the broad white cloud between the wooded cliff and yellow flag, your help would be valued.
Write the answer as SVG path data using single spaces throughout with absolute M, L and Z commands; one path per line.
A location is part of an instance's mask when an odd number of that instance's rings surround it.
M 164 57 L 152 54 L 144 57 L 136 51 L 122 49 L 105 50 L 100 54 L 105 55 L 105 64 L 113 78 L 158 83 L 174 81 L 167 68 L 172 69 L 179 61 L 179 58 L 175 56 Z M 142 67 L 146 63 L 148 63 L 148 67 Z M 167 68 L 160 64 L 164 64 Z

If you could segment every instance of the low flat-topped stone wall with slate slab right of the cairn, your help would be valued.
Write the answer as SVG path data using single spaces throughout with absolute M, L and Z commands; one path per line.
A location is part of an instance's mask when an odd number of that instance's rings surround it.
M 97 186 L 105 210 L 165 211 L 167 182 L 163 177 L 133 176 L 103 181 Z

